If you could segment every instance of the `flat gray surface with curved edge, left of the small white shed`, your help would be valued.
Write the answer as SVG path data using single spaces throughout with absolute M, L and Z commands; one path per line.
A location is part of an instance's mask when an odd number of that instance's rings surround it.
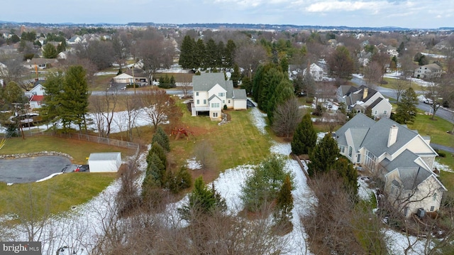
M 62 156 L 40 156 L 33 158 L 1 159 L 0 181 L 4 183 L 31 183 L 61 173 L 62 168 L 71 164 Z

